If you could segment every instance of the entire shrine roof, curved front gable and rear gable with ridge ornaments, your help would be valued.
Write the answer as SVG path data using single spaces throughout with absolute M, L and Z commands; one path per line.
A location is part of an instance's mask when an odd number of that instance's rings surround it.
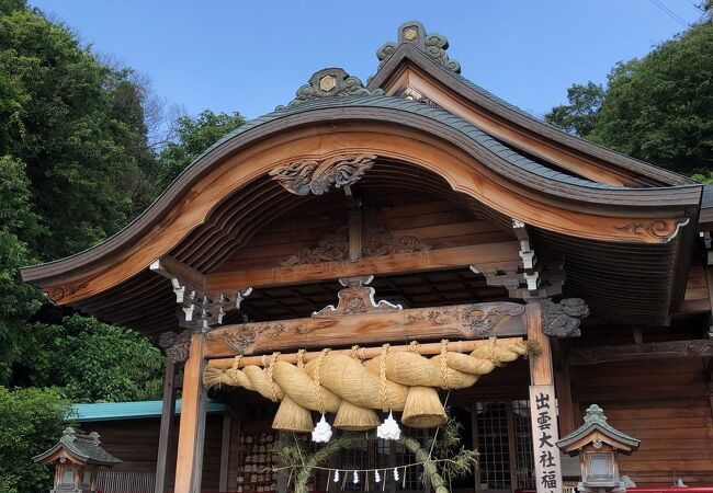
M 421 30 L 421 34 L 417 33 L 415 38 L 409 39 L 411 34 L 405 33 L 414 26 Z M 106 289 L 135 278 L 156 259 L 181 242 L 192 241 L 191 232 L 204 223 L 208 215 L 231 194 L 248 197 L 250 186 L 258 186 L 261 176 L 267 176 L 265 172 L 270 171 L 270 168 L 283 163 L 273 161 L 265 164 L 267 169 L 252 169 L 250 167 L 258 167 L 259 159 L 250 158 L 246 161 L 248 158 L 244 158 L 245 156 L 262 156 L 268 152 L 270 142 L 288 137 L 297 139 L 294 140 L 296 142 L 305 142 L 309 138 L 319 142 L 304 150 L 293 146 L 294 156 L 290 159 L 314 156 L 315 151 L 328 149 L 330 145 L 336 147 L 329 152 L 335 152 L 340 146 L 344 147 L 344 142 L 350 141 L 348 138 L 337 141 L 339 139 L 335 136 L 347 135 L 352 130 L 363 136 L 370 130 L 375 134 L 378 129 L 383 134 L 392 135 L 394 142 L 404 141 L 398 140 L 404 137 L 421 146 L 430 145 L 430 149 L 448 148 L 451 156 L 459 156 L 459 162 L 469 160 L 469 168 L 464 169 L 466 171 L 452 171 L 438 160 L 420 159 L 418 153 L 408 158 L 395 144 L 392 147 L 388 144 L 380 144 L 382 147 L 370 144 L 370 149 L 376 149 L 377 158 L 411 160 L 411 165 L 440 175 L 454 191 L 475 198 L 487 208 L 494 209 L 495 214 L 527 222 L 541 232 L 543 241 L 561 243 L 565 249 L 580 248 L 582 251 L 601 249 L 597 246 L 597 242 L 614 242 L 619 244 L 614 250 L 623 257 L 629 254 L 627 249 L 635 252 L 636 249 L 641 250 L 650 244 L 649 250 L 660 252 L 661 262 L 667 263 L 666 268 L 661 270 L 660 278 L 661 283 L 668 283 L 669 286 L 669 293 L 665 296 L 666 308 L 676 303 L 677 295 L 671 294 L 671 290 L 681 289 L 681 279 L 676 278 L 674 264 L 690 254 L 690 243 L 695 234 L 700 210 L 700 185 L 690 184 L 687 179 L 675 173 L 563 134 L 496 99 L 457 74 L 454 71 L 456 65 L 444 55 L 448 42 L 443 43 L 444 37 L 440 35 L 435 38 L 433 35 L 426 35 L 420 24 L 406 23 L 399 33 L 399 36 L 404 37 L 400 44 L 385 45 L 386 48 L 382 47 L 380 50 L 380 58 L 383 57 L 382 66 L 367 88 L 342 69 L 316 72 L 310 83 L 301 88 L 297 98 L 286 107 L 279 107 L 273 113 L 248 122 L 206 149 L 151 207 L 124 230 L 76 255 L 24 267 L 23 278 L 48 290 L 58 302 L 75 303 L 92 299 L 91 297 Z M 419 42 L 423 46 L 420 46 Z M 469 121 L 466 113 L 456 114 L 433 107 L 432 104 L 425 104 L 429 103 L 428 98 L 422 98 L 421 102 L 411 101 L 412 94 L 408 92 L 406 96 L 404 91 L 397 95 L 396 87 L 392 82 L 397 72 L 403 71 L 405 64 L 414 65 L 427 76 L 437 76 L 434 83 L 460 91 L 459 98 L 463 100 L 464 105 L 477 106 L 484 112 L 497 114 L 496 116 L 507 121 L 507 124 L 517 127 L 518 131 L 525 129 L 543 141 L 546 140 L 548 145 L 557 144 L 570 154 L 587 154 L 586 159 L 597 163 L 607 161 L 612 169 L 618 170 L 616 173 L 627 173 L 627 180 L 635 186 L 599 182 L 577 175 L 568 168 L 568 162 L 552 162 L 551 159 L 535 156 L 535 152 L 528 149 L 523 150 L 518 142 L 508 142 L 501 136 L 495 136 L 480 128 L 478 122 Z M 392 95 L 384 94 L 382 84 L 386 88 L 386 93 Z M 374 142 L 376 141 L 374 137 Z M 283 159 L 286 156 L 284 154 Z M 581 159 L 586 160 L 585 158 Z M 235 164 L 230 164 L 234 162 Z M 228 164 L 234 169 L 230 170 Z M 227 174 L 237 175 L 239 172 L 245 176 L 240 182 L 228 183 L 217 192 L 216 183 L 225 183 Z M 484 183 L 493 188 L 483 188 Z M 652 184 L 656 186 L 650 186 Z M 514 205 L 506 205 L 496 199 L 496 192 L 511 195 Z M 210 195 L 201 198 L 205 202 L 201 211 L 196 211 L 196 203 L 201 202 L 194 200 L 196 193 Z M 533 200 L 537 206 L 529 213 L 528 204 Z M 193 210 L 189 210 L 191 207 Z M 547 219 L 546 215 L 537 211 L 544 207 L 567 214 Z M 178 228 L 176 223 L 191 214 L 195 217 L 180 233 L 173 231 L 172 236 L 163 234 L 170 228 Z M 577 218 L 567 222 L 566 217 L 569 215 Z M 609 226 L 601 226 L 604 223 L 601 221 L 608 221 Z M 591 222 L 591 226 L 586 226 L 587 222 Z M 172 239 L 165 238 L 169 236 Z M 163 243 L 160 243 L 161 241 Z M 571 243 L 573 241 L 575 243 Z M 155 252 L 152 256 L 148 253 L 149 250 Z M 133 260 L 138 257 L 143 260 Z M 106 270 L 118 268 L 120 263 L 125 271 L 123 277 L 115 276 L 114 280 L 97 287 L 97 277 L 104 275 Z M 642 272 L 644 271 L 645 267 L 642 267 Z M 659 301 L 661 300 L 656 302 Z

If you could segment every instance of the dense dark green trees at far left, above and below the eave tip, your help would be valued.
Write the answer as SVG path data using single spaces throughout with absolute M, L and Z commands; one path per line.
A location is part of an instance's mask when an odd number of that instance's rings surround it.
M 69 311 L 19 276 L 113 234 L 154 198 L 145 98 L 131 70 L 24 1 L 0 0 L 1 385 L 81 401 L 160 395 L 163 358 L 146 337 L 63 321 Z

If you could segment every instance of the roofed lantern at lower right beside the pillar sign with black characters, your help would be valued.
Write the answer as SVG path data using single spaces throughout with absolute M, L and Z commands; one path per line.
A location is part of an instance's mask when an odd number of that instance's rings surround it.
M 631 455 L 640 443 L 607 423 L 604 411 L 593 404 L 587 409 L 585 424 L 557 442 L 557 447 L 569 456 L 579 456 L 579 492 L 623 492 L 626 486 L 619 477 L 616 456 Z

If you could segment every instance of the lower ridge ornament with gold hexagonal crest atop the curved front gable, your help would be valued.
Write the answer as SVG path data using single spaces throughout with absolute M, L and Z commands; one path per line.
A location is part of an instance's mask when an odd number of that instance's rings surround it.
M 382 94 L 384 94 L 383 90 L 366 89 L 359 78 L 350 76 L 344 69 L 338 67 L 326 68 L 313 73 L 309 82 L 297 89 L 295 99 L 287 103 L 286 106 L 280 105 L 275 107 L 275 111 L 322 98 Z

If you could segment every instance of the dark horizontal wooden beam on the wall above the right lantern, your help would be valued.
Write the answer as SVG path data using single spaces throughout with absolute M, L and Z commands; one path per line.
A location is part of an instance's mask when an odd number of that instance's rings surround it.
M 713 356 L 713 340 L 703 339 L 570 349 L 567 355 L 567 363 L 569 365 L 597 365 L 632 359 L 708 356 Z

